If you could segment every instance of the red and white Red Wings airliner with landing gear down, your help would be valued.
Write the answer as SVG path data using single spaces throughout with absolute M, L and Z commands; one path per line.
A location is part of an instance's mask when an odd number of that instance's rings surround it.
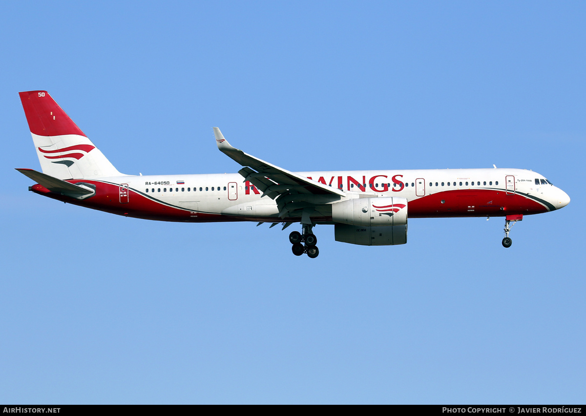
M 230 145 L 213 128 L 220 152 L 242 166 L 234 174 L 127 175 L 106 159 L 47 91 L 19 92 L 42 173 L 29 191 L 132 218 L 175 222 L 301 224 L 289 234 L 296 256 L 319 255 L 315 225 L 335 240 L 381 246 L 407 243 L 408 218 L 505 217 L 503 247 L 524 215 L 555 211 L 570 197 L 525 169 L 429 169 L 291 172 Z

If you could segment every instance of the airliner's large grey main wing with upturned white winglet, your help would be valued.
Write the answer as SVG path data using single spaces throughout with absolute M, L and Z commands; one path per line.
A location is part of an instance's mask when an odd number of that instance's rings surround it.
M 222 132 L 217 127 L 214 127 L 214 136 L 216 136 L 218 149 L 237 161 L 237 163 L 240 163 L 241 166 L 244 166 L 238 173 L 245 180 L 250 181 L 255 187 L 263 191 L 263 196 L 267 195 L 273 200 L 279 195 L 291 192 L 313 195 L 338 195 L 338 197 L 346 196 L 339 189 L 302 177 L 236 149 L 224 139 Z

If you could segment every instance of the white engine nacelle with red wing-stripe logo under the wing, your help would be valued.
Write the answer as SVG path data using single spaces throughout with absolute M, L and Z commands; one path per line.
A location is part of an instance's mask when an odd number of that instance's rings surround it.
M 363 246 L 407 243 L 407 200 L 357 198 L 332 204 L 335 239 Z

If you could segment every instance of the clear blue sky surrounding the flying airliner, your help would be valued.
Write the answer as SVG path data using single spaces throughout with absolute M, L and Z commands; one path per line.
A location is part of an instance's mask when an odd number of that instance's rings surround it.
M 584 2 L 2 2 L 0 401 L 582 403 Z M 571 197 L 291 254 L 42 198 L 19 91 L 127 174 L 516 167 Z

